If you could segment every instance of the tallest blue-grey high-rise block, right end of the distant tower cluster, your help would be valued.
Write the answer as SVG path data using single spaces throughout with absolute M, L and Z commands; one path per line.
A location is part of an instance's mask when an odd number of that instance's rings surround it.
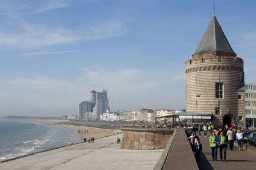
M 103 90 L 103 92 L 96 92 L 96 103 L 94 107 L 94 112 L 97 120 L 99 120 L 100 115 L 107 112 L 107 108 L 108 108 L 107 90 Z

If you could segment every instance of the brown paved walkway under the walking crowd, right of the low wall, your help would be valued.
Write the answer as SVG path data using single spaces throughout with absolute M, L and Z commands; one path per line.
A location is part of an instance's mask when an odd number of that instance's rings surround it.
M 220 161 L 218 148 L 218 161 L 213 161 L 209 144 L 209 135 L 207 135 L 207 137 L 201 136 L 200 140 L 202 143 L 203 154 L 201 155 L 201 161 L 197 162 L 199 169 L 256 169 L 256 154 L 245 151 L 245 147 L 241 151 L 239 151 L 238 148 L 234 148 L 232 151 L 227 148 L 227 162 Z

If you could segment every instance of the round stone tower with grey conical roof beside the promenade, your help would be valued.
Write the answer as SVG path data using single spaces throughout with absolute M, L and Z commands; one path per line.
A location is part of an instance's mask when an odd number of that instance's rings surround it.
M 244 66 L 213 15 L 204 36 L 186 61 L 187 112 L 211 112 L 217 126 L 245 126 Z

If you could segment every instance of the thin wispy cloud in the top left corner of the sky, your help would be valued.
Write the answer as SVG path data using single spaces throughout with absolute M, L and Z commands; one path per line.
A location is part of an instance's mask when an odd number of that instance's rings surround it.
M 60 9 L 68 7 L 71 1 L 54 0 L 54 1 L 0 1 L 0 15 L 33 15 L 37 13 L 44 13 L 48 10 Z

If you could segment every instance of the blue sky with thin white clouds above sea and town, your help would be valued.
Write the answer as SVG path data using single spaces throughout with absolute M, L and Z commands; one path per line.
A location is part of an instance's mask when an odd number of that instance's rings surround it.
M 256 83 L 256 1 L 0 0 L 0 117 L 185 109 L 185 62 L 215 16 Z

